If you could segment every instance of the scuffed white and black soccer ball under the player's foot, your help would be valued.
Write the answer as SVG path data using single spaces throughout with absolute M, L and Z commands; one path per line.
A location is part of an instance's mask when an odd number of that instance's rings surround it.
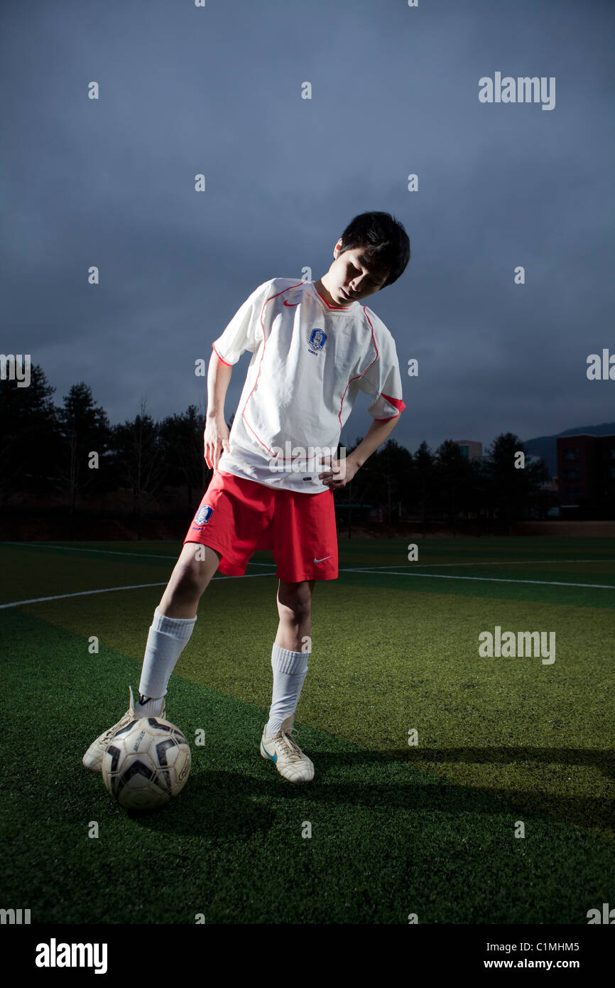
M 138 717 L 120 727 L 103 756 L 103 781 L 124 809 L 164 806 L 190 771 L 188 741 L 162 717 Z

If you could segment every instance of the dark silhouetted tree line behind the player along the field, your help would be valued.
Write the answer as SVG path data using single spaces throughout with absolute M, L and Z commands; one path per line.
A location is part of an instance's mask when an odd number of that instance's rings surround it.
M 112 425 L 85 382 L 73 384 L 61 405 L 54 392 L 38 365 L 29 387 L 0 381 L 3 507 L 19 503 L 20 495 L 36 502 L 52 497 L 67 507 L 72 531 L 74 514 L 88 497 L 128 490 L 140 536 L 148 507 L 174 487 L 184 491 L 178 509 L 191 516 L 211 477 L 203 458 L 204 409 L 190 405 L 156 422 L 141 402 L 133 419 Z M 516 468 L 519 451 L 523 444 L 512 433 L 498 436 L 474 460 L 450 440 L 434 452 L 423 441 L 413 454 L 390 439 L 336 493 L 336 503 L 343 513 L 347 506 L 348 520 L 352 511 L 358 520 L 357 506 L 370 506 L 389 525 L 413 518 L 428 530 L 437 520 L 455 532 L 464 520 L 497 518 L 500 529 L 511 530 L 529 512 L 544 517 L 551 504 L 541 490 L 544 462 L 526 460 L 525 468 Z

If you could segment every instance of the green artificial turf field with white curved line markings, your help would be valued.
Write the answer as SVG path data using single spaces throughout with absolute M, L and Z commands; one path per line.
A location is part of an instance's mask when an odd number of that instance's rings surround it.
M 259 754 L 270 553 L 216 576 L 167 697 L 191 777 L 127 814 L 81 757 L 138 686 L 180 548 L 0 544 L 0 905 L 45 924 L 586 924 L 615 903 L 615 539 L 427 539 L 418 562 L 404 539 L 341 541 L 314 592 L 305 786 Z M 555 662 L 480 657 L 496 625 L 556 632 Z

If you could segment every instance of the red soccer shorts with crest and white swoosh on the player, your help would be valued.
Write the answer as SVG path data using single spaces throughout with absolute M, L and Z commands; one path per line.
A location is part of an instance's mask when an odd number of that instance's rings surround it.
M 219 570 L 243 576 L 257 549 L 271 549 L 275 575 L 287 583 L 337 580 L 338 532 L 333 491 L 302 494 L 216 470 L 194 515 L 187 542 L 220 552 Z

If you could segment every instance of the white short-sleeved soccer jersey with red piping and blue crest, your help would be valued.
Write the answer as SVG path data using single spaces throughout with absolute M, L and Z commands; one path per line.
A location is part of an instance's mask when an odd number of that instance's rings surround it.
M 376 421 L 406 407 L 387 327 L 357 301 L 330 305 L 313 282 L 260 285 L 212 346 L 228 365 L 254 355 L 218 468 L 258 483 L 327 490 L 323 457 L 335 453 L 358 391 L 371 395 Z

